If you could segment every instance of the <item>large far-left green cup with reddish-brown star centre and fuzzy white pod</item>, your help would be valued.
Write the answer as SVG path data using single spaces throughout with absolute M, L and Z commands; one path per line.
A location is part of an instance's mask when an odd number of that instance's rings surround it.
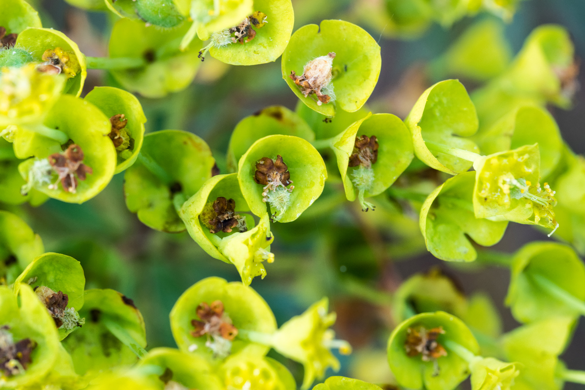
M 35 156 L 18 167 L 27 181 L 23 194 L 34 188 L 64 202 L 93 198 L 108 185 L 116 167 L 110 131 L 98 108 L 69 95 L 59 98 L 42 124 L 19 126 L 13 143 L 16 157 Z M 42 135 L 53 133 L 63 138 Z

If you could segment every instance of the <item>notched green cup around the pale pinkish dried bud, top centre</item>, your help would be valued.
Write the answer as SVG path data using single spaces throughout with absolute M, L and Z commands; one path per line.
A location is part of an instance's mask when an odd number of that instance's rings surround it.
M 322 85 L 329 103 L 318 105 L 315 96 L 305 97 L 290 74 L 304 73 L 304 67 L 317 57 L 335 53 L 331 81 Z M 362 29 L 343 20 L 323 20 L 321 25 L 303 26 L 292 34 L 282 58 L 283 78 L 292 92 L 307 106 L 324 115 L 335 115 L 336 109 L 354 112 L 370 97 L 380 75 L 380 46 Z M 325 78 L 328 72 L 319 75 Z M 335 98 L 333 98 L 335 96 Z M 319 102 L 320 103 L 320 102 Z

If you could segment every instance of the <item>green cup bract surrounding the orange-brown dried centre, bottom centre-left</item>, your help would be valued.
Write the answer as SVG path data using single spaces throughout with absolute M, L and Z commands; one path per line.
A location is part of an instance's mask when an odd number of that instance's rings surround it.
M 191 321 L 197 319 L 197 306 L 206 302 L 221 301 L 224 313 L 229 315 L 233 326 L 239 332 L 243 330 L 273 333 L 276 330 L 276 319 L 270 307 L 264 299 L 252 288 L 240 282 L 228 283 L 225 279 L 210 277 L 192 285 L 179 297 L 171 310 L 171 330 L 179 349 L 183 352 L 192 351 L 207 358 L 209 361 L 217 361 L 214 353 L 205 343 L 207 337 L 193 337 L 191 331 L 194 326 Z M 232 340 L 231 353 L 253 354 L 264 356 L 269 346 L 250 342 L 237 337 Z

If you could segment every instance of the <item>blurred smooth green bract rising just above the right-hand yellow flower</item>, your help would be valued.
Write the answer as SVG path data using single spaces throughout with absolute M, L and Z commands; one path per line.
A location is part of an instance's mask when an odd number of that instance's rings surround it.
M 545 108 L 536 105 L 513 109 L 486 132 L 476 134 L 474 139 L 484 154 L 538 143 L 541 177 L 548 177 L 563 153 L 559 126 Z

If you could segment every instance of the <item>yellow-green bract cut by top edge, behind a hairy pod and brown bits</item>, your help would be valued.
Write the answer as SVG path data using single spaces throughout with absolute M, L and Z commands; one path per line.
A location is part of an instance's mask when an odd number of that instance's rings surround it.
M 291 0 L 254 0 L 252 7 L 253 11 L 265 13 L 268 23 L 260 28 L 250 26 L 256 31 L 250 42 L 212 46 L 209 53 L 214 58 L 232 65 L 257 65 L 276 61 L 283 54 L 294 24 Z

